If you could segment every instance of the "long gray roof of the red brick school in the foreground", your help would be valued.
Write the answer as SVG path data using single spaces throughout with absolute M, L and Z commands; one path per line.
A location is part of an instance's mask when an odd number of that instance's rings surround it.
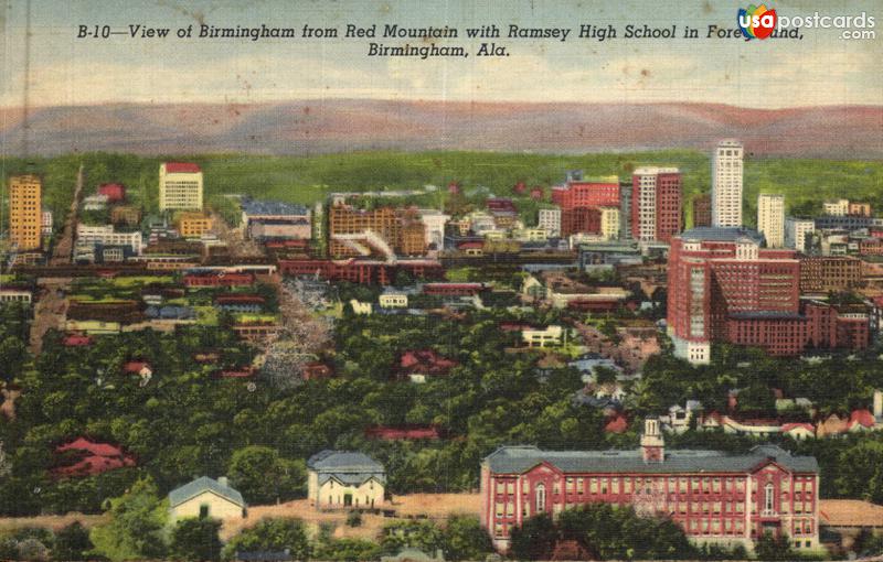
M 757 445 L 745 454 L 721 451 L 673 450 L 662 463 L 645 463 L 641 451 L 542 451 L 535 446 L 500 447 L 485 458 L 498 474 L 522 474 L 540 463 L 549 463 L 563 473 L 745 473 L 766 460 L 796 472 L 816 473 L 819 465 L 811 456 L 792 456 L 775 445 Z

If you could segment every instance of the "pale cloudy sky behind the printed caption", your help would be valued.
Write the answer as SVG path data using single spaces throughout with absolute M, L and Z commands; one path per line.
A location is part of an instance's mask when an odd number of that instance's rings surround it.
M 706 26 L 735 28 L 743 4 L 728 0 L 404 1 L 306 0 L 152 2 L 3 0 L 0 21 L 0 107 L 108 102 L 262 102 L 315 98 L 550 102 L 723 102 L 755 108 L 883 104 L 883 2 L 874 0 L 770 3 L 781 15 L 874 17 L 872 40 L 842 40 L 836 30 L 804 30 L 801 41 L 704 39 Z M 77 39 L 79 25 L 179 28 L 200 24 L 338 28 L 398 24 L 453 26 L 466 58 L 370 57 L 377 37 Z M 566 41 L 471 40 L 464 28 L 496 23 L 568 28 Z M 619 37 L 576 37 L 581 24 L 607 26 Z M 626 40 L 625 26 L 677 25 L 674 40 Z M 700 39 L 680 39 L 685 25 Z M 380 32 L 379 32 L 380 35 Z M 416 40 L 418 43 L 421 40 Z M 506 45 L 509 56 L 475 56 L 481 41 Z M 413 41 L 412 41 L 413 42 Z M 28 56 L 25 56 L 28 54 Z M 25 64 L 25 58 L 30 64 Z

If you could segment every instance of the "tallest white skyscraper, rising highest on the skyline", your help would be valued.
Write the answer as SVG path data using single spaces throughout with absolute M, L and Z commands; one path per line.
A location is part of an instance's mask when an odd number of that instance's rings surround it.
M 742 226 L 742 155 L 737 140 L 723 140 L 711 164 L 711 226 Z

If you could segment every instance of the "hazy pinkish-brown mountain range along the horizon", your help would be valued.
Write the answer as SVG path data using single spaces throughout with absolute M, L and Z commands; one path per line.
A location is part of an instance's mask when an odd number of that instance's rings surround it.
M 883 158 L 883 106 L 747 109 L 714 104 L 521 104 L 363 99 L 114 104 L 31 109 L 30 152 L 139 154 L 354 150 L 708 151 L 734 137 L 757 155 Z M 0 109 L 3 152 L 23 111 Z

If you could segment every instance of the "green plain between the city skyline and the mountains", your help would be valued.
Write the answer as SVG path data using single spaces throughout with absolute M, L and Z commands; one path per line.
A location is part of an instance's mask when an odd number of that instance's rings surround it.
M 424 185 L 443 187 L 419 201 L 438 206 L 445 186 L 459 182 L 467 197 L 479 201 L 486 193 L 511 195 L 517 182 L 547 187 L 560 183 L 567 170 L 582 169 L 589 175 L 618 174 L 626 179 L 642 164 L 675 165 L 684 177 L 685 212 L 695 194 L 710 190 L 709 154 L 671 150 L 584 155 L 518 154 L 497 152 L 355 152 L 317 156 L 260 156 L 213 154 L 142 158 L 131 154 L 71 154 L 52 159 L 4 159 L 6 176 L 34 171 L 44 176 L 45 204 L 56 217 L 64 215 L 81 162 L 85 164 L 86 194 L 103 182 L 123 182 L 129 198 L 148 210 L 157 208 L 159 163 L 183 160 L 199 163 L 205 175 L 208 203 L 233 216 L 234 203 L 226 194 L 310 204 L 336 191 L 415 190 Z M 758 193 L 781 193 L 791 214 L 809 214 L 826 198 L 849 197 L 883 208 L 883 162 L 748 158 L 745 162 L 745 217 L 755 220 Z M 535 202 L 521 196 L 525 214 Z M 6 205 L 6 203 L 3 203 Z M 56 218 L 56 224 L 61 220 Z M 688 218 L 689 224 L 689 218 Z

